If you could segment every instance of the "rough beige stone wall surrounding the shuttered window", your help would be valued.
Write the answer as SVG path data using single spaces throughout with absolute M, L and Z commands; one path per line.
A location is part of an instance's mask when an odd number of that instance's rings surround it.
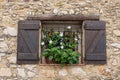
M 39 14 L 100 15 L 107 23 L 107 64 L 17 65 L 17 22 Z M 120 80 L 120 0 L 0 0 L 0 80 Z

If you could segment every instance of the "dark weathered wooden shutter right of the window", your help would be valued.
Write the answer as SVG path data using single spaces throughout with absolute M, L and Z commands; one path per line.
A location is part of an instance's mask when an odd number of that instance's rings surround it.
M 87 64 L 106 63 L 106 32 L 104 21 L 84 21 L 85 62 Z

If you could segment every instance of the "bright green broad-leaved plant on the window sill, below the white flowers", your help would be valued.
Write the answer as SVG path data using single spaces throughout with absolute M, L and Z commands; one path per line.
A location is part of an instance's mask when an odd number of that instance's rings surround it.
M 49 60 L 54 60 L 55 63 L 60 64 L 76 64 L 78 63 L 79 53 L 71 49 L 51 48 L 46 49 L 43 56 L 48 57 Z

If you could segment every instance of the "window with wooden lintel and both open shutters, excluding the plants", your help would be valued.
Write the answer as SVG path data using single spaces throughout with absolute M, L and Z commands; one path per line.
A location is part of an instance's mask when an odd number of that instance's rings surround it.
M 75 34 L 78 30 L 80 31 L 79 42 L 81 44 L 77 45 L 78 51 L 81 53 L 79 63 L 105 64 L 105 22 L 91 16 L 42 16 L 29 17 L 28 20 L 19 21 L 17 63 L 44 63 L 45 60 L 41 57 L 44 49 L 40 47 L 44 33 L 41 31 L 44 28 L 48 32 L 54 29 L 54 32 L 61 31 L 65 33 L 68 26 L 72 27 L 71 30 L 72 32 L 75 31 Z

